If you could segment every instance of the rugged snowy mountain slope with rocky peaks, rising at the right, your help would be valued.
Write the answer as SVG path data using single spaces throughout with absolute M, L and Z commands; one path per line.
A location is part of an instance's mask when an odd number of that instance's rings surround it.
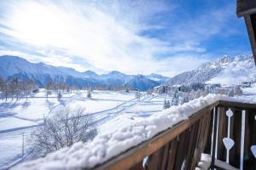
M 252 55 L 223 57 L 202 64 L 193 71 L 186 71 L 172 77 L 169 85 L 179 85 L 191 82 L 220 83 L 236 85 L 241 82 L 256 80 L 256 66 Z

